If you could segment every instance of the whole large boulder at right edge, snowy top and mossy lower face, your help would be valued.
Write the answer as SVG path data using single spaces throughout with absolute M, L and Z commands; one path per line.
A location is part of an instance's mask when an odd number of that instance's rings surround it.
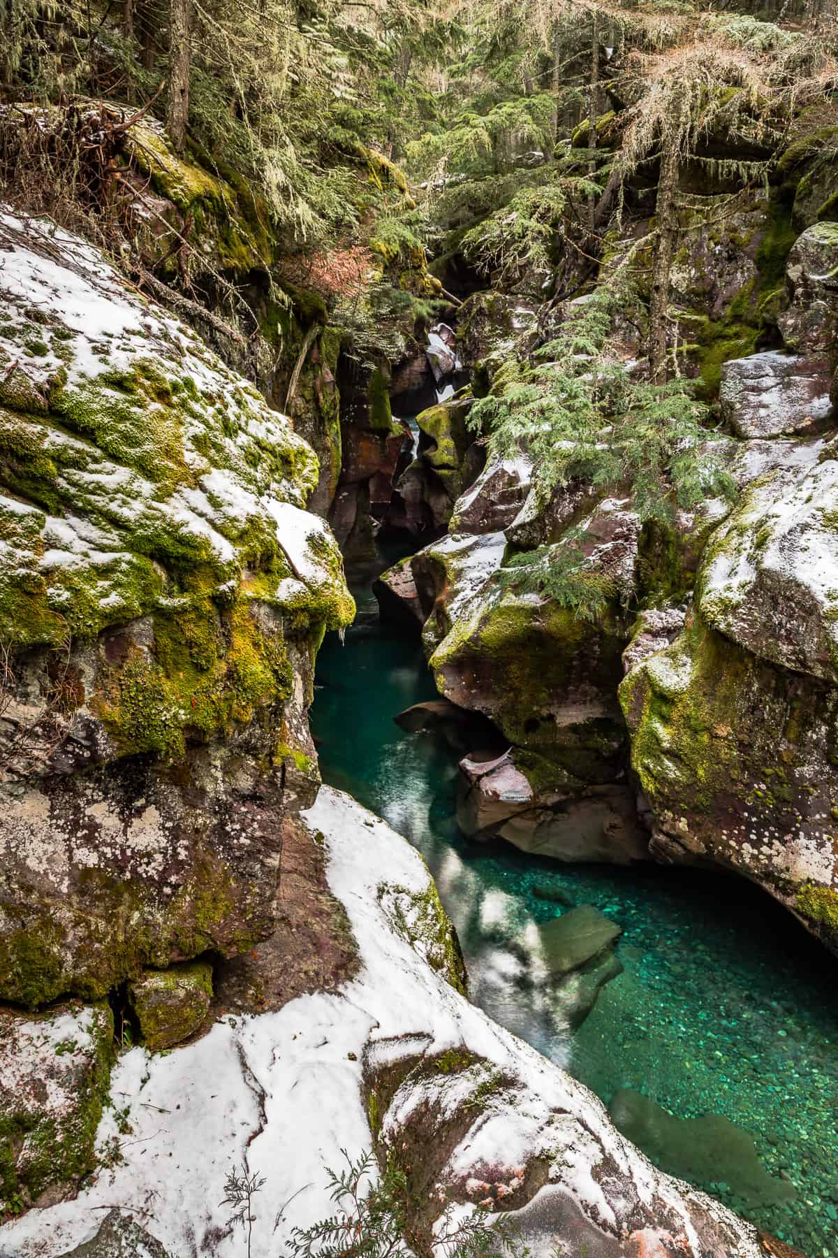
M 746 491 L 710 540 L 686 628 L 638 658 L 621 699 L 653 850 L 740 871 L 834 949 L 838 463 L 810 454 Z

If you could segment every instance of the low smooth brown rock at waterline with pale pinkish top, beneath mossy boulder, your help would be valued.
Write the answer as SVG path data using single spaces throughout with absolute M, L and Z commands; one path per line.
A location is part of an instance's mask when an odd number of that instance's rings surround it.
M 460 772 L 457 824 L 467 835 L 501 838 L 554 860 L 648 858 L 626 782 L 590 785 L 518 747 L 486 761 L 467 756 Z

